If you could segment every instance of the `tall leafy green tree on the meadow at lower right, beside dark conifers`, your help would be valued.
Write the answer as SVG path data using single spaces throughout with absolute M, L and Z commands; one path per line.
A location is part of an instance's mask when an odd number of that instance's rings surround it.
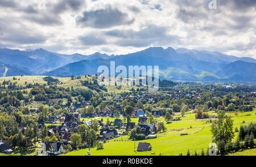
M 222 110 L 218 111 L 217 114 L 218 118 L 212 123 L 210 131 L 213 135 L 212 142 L 219 145 L 220 149 L 234 138 L 233 120 L 229 116 L 225 118 L 225 112 Z

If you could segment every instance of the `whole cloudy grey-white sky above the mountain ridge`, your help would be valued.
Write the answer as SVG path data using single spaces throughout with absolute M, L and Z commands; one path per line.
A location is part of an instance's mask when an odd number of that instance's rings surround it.
M 216 9 L 214 0 L 1 0 L 0 48 L 126 54 L 172 46 L 256 58 L 256 1 L 215 1 Z

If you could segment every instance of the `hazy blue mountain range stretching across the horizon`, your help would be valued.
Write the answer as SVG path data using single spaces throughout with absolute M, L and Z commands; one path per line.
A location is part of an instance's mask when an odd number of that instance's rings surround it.
M 152 47 L 125 55 L 59 54 L 44 49 L 0 49 L 0 76 L 71 76 L 96 74 L 99 66 L 159 66 L 160 79 L 256 82 L 256 59 L 171 47 Z

